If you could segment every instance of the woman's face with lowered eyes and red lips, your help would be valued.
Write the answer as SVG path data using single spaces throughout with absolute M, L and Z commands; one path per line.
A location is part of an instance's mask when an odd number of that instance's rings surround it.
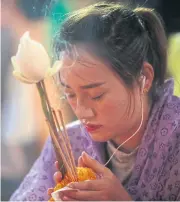
M 95 141 L 131 136 L 140 123 L 139 86 L 128 89 L 105 63 L 80 49 L 73 61 L 63 57 L 60 80 L 74 113 Z

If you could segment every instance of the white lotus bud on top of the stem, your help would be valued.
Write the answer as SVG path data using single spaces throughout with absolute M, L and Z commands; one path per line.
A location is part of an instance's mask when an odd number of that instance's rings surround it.
M 50 58 L 42 44 L 32 40 L 29 32 L 20 39 L 16 56 L 11 58 L 13 75 L 25 83 L 37 83 L 48 76 L 53 76 L 61 67 L 61 61 L 56 61 L 50 67 Z

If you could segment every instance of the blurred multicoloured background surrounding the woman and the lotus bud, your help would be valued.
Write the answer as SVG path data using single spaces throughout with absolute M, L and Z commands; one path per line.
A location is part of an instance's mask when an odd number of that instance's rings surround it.
M 12 192 L 40 154 L 48 136 L 38 93 L 12 77 L 11 56 L 16 54 L 25 31 L 42 43 L 51 55 L 54 33 L 66 14 L 100 0 L 2 0 L 1 1 L 1 200 Z M 109 0 L 155 8 L 163 17 L 168 36 L 168 76 L 175 78 L 175 94 L 180 95 L 180 1 Z M 65 122 L 76 119 L 68 104 L 47 81 L 52 101 L 63 108 Z

